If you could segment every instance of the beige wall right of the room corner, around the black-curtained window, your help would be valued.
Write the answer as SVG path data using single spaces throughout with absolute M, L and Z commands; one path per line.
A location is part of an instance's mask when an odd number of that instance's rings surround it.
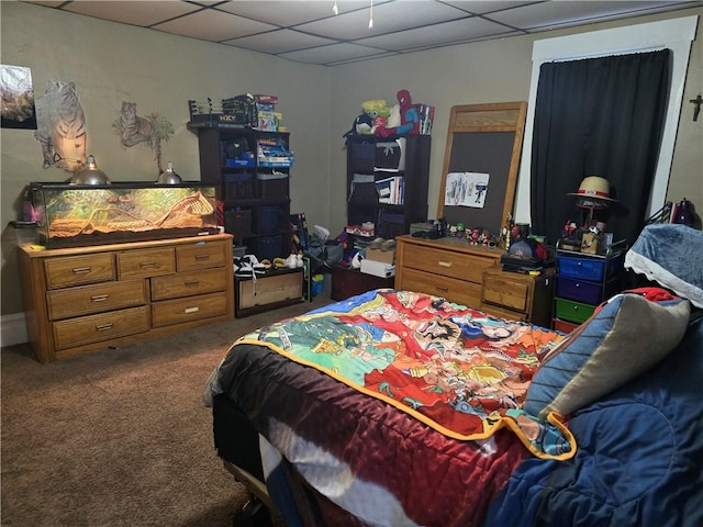
M 527 101 L 532 75 L 532 46 L 535 41 L 694 14 L 703 14 L 703 9 L 680 10 L 668 14 L 639 16 L 529 36 L 444 47 L 335 67 L 332 74 L 332 93 L 336 101 L 332 114 L 333 141 L 348 130 L 353 120 L 349 116 L 359 113 L 361 101 L 366 99 L 386 99 L 389 104 L 394 104 L 395 92 L 401 88 L 408 88 L 413 101 L 434 104 L 436 114 L 432 133 L 428 211 L 429 216 L 435 217 L 451 106 Z M 364 85 L 366 89 L 360 89 L 359 87 Z M 702 91 L 703 22 L 699 20 L 696 38 L 691 47 L 683 93 L 685 102 L 682 104 L 667 199 L 678 202 L 685 197 L 698 205 L 701 215 L 703 215 L 703 112 L 699 121 L 693 122 L 693 105 L 688 101 Z M 344 178 L 345 162 L 345 152 L 342 146 L 342 142 L 336 144 L 333 142 L 331 153 L 331 173 L 334 179 L 339 180 Z M 332 200 L 336 210 L 344 208 L 343 195 L 333 195 Z

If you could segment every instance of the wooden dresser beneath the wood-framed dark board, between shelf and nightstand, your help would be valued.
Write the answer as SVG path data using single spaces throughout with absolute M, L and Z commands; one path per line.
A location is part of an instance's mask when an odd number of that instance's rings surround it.
M 500 262 L 504 250 L 471 245 L 464 238 L 395 238 L 395 289 L 443 296 L 479 310 L 483 271 Z

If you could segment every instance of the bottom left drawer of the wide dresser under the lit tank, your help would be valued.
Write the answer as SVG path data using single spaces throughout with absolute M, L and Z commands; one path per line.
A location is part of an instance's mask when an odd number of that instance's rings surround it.
M 55 348 L 60 350 L 148 332 L 149 313 L 146 306 L 111 311 L 54 322 L 53 329 Z

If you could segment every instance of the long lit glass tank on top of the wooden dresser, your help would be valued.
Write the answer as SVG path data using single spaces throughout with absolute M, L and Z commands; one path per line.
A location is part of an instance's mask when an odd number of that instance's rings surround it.
M 47 248 L 219 233 L 215 187 L 30 183 L 37 243 Z

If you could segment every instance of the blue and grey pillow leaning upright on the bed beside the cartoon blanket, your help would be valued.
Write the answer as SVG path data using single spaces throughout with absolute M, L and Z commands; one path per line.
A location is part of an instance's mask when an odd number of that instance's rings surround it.
M 622 386 L 677 347 L 690 312 L 688 300 L 613 296 L 543 359 L 524 410 L 567 415 Z

